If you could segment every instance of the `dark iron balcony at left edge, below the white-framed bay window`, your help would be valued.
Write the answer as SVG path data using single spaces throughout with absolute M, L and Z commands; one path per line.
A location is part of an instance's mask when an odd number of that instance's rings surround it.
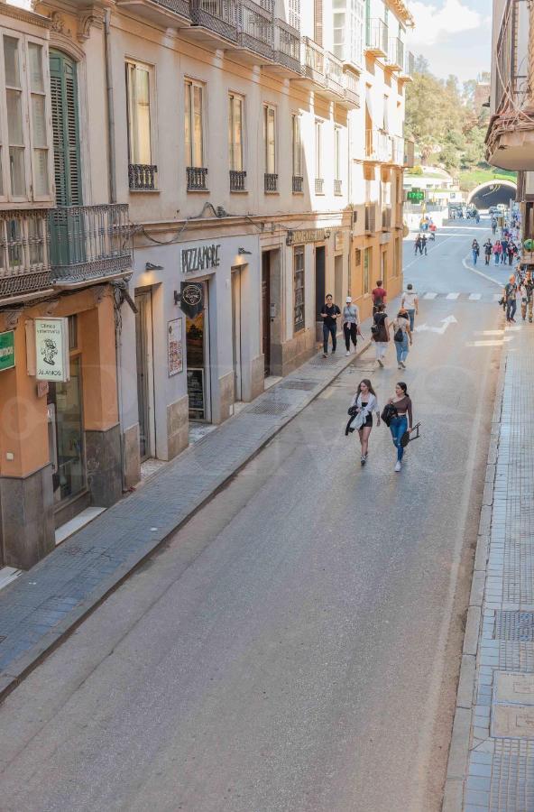
M 51 290 L 48 211 L 0 212 L 0 302 Z

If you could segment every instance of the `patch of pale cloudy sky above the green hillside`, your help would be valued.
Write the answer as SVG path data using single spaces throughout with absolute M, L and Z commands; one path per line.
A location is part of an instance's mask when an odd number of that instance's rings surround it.
M 411 0 L 416 27 L 409 48 L 428 59 L 432 73 L 461 80 L 490 69 L 491 0 Z

